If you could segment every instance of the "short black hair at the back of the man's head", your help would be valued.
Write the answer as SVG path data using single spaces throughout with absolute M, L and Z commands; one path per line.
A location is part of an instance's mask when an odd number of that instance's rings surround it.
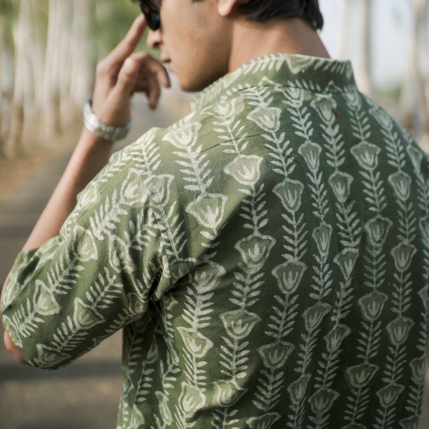
M 249 0 L 239 6 L 251 21 L 267 21 L 270 18 L 302 18 L 314 30 L 323 27 L 318 0 Z

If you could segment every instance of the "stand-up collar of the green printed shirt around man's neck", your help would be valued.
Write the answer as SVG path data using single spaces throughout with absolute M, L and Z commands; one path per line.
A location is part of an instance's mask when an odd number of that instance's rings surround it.
M 358 91 L 350 61 L 298 54 L 271 54 L 255 58 L 202 90 L 190 110 L 201 110 L 253 86 L 307 89 L 317 92 Z

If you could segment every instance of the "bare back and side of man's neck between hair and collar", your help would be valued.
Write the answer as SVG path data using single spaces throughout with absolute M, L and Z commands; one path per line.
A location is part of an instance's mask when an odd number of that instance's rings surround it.
M 329 58 L 317 32 L 302 19 L 271 19 L 260 23 L 243 18 L 233 25 L 228 71 L 278 52 Z

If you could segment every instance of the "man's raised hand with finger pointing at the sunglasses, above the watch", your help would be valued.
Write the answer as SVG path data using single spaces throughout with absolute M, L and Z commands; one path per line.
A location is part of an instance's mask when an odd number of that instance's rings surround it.
M 130 97 L 135 92 L 145 92 L 155 109 L 160 85 L 170 86 L 162 64 L 146 52 L 134 52 L 145 28 L 145 18 L 139 15 L 124 40 L 97 65 L 92 110 L 108 125 L 130 122 Z

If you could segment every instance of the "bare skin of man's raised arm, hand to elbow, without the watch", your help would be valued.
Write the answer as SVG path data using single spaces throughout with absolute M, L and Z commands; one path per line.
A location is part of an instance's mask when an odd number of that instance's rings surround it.
M 105 124 L 121 127 L 130 122 L 130 97 L 135 92 L 145 91 L 149 98 L 157 100 L 159 82 L 169 86 L 162 64 L 145 52 L 134 53 L 145 27 L 145 19 L 140 15 L 124 40 L 97 66 L 93 111 Z M 156 102 L 152 104 L 155 106 Z M 96 137 L 86 128 L 82 131 L 69 164 L 23 250 L 39 247 L 60 233 L 61 226 L 76 206 L 78 193 L 107 164 L 111 149 L 111 142 Z M 0 309 L 2 301 L 3 292 Z M 4 341 L 15 359 L 25 362 L 7 332 Z

